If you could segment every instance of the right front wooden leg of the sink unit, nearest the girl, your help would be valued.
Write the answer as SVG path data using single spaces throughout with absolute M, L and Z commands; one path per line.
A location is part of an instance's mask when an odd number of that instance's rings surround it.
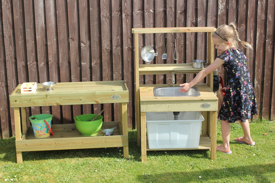
M 210 147 L 210 158 L 216 159 L 216 145 L 217 145 L 217 115 L 218 111 L 210 111 L 210 124 L 211 124 L 211 147 Z

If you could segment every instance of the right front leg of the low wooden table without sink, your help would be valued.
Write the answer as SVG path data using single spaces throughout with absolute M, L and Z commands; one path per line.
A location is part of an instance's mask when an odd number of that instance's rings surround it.
M 128 135 L 128 114 L 127 114 L 127 103 L 119 103 L 120 111 L 120 124 L 122 126 L 122 134 Z M 129 144 L 129 143 L 128 143 Z M 123 156 L 129 157 L 129 145 L 123 146 Z

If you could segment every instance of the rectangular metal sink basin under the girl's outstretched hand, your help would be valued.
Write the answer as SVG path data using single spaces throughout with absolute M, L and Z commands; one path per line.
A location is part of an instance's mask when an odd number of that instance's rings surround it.
M 192 87 L 186 93 L 178 91 L 182 87 L 155 87 L 154 96 L 156 97 L 197 97 L 200 92 L 197 87 Z

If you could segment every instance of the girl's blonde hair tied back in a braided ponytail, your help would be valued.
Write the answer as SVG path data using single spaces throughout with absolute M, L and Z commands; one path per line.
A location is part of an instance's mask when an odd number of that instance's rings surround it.
M 229 25 L 223 24 L 219 26 L 213 33 L 212 37 L 221 38 L 221 43 L 226 46 L 227 49 L 229 49 L 226 44 L 227 41 L 231 43 L 230 47 L 238 47 L 238 41 L 240 41 L 245 48 L 253 49 L 251 44 L 240 40 L 239 34 L 237 32 L 237 26 L 234 22 L 231 22 Z

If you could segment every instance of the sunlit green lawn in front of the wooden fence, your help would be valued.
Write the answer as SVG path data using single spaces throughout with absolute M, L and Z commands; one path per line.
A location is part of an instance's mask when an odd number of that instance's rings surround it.
M 129 130 L 129 158 L 123 158 L 122 147 L 34 151 L 23 152 L 17 164 L 15 137 L 0 139 L 0 182 L 275 182 L 274 122 L 250 127 L 255 146 L 234 142 L 242 129 L 232 124 L 233 153 L 217 152 L 215 160 L 209 150 L 178 150 L 147 151 L 147 162 L 141 162 L 136 131 Z

